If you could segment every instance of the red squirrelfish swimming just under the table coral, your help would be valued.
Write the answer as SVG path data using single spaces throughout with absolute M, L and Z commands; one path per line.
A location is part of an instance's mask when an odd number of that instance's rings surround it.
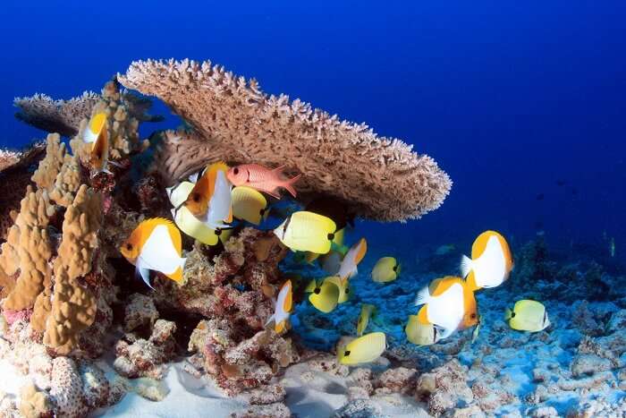
M 279 187 L 283 187 L 296 197 L 293 183 L 296 183 L 301 175 L 292 178 L 283 178 L 284 166 L 271 169 L 258 164 L 243 164 L 234 166 L 228 170 L 226 177 L 235 186 L 248 186 L 259 192 L 266 192 L 270 196 L 280 199 Z

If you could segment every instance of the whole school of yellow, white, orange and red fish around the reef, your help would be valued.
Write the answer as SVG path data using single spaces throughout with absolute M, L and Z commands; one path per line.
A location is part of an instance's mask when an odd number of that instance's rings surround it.
M 100 112 L 92 115 L 83 141 L 91 144 L 89 163 L 92 176 L 111 174 L 109 158 L 108 117 Z M 135 273 L 152 288 L 153 277 L 162 275 L 184 286 L 182 236 L 207 245 L 225 243 L 237 226 L 263 226 L 273 209 L 274 200 L 281 199 L 281 190 L 293 198 L 294 184 L 300 175 L 287 177 L 284 166 L 269 168 L 259 164 L 228 166 L 219 161 L 204 167 L 189 178 L 181 179 L 165 192 L 172 204 L 172 220 L 148 218 L 140 222 L 121 243 L 119 251 L 135 266 Z M 267 196 L 267 197 L 266 197 Z M 312 200 L 303 209 L 292 210 L 283 222 L 272 230 L 274 235 L 294 253 L 294 260 L 311 265 L 317 262 L 327 277 L 311 279 L 304 286 L 308 301 L 318 311 L 331 313 L 341 303 L 350 300 L 351 278 L 359 270 L 368 251 L 368 243 L 361 238 L 350 247 L 344 244 L 346 228 L 353 226 L 354 217 L 344 205 L 329 198 Z M 277 208 L 277 207 L 276 207 Z M 275 212 L 280 216 L 281 209 Z M 453 245 L 437 249 L 444 255 L 454 250 Z M 433 345 L 466 328 L 474 328 L 472 341 L 478 337 L 481 318 L 475 292 L 500 286 L 513 269 L 512 253 L 504 237 L 495 231 L 486 231 L 474 241 L 470 256 L 462 256 L 461 277 L 447 276 L 433 280 L 418 293 L 419 311 L 410 315 L 405 333 L 416 345 Z M 392 256 L 376 261 L 371 271 L 372 282 L 385 286 L 401 277 L 402 265 Z M 278 334 L 290 326 L 293 311 L 292 277 L 284 281 L 278 294 L 264 289 L 274 306 L 274 313 L 266 319 Z M 361 303 L 355 338 L 337 347 L 339 363 L 356 365 L 373 362 L 385 352 L 384 327 L 376 324 L 376 306 Z M 512 329 L 537 332 L 550 326 L 547 311 L 537 301 L 521 300 L 504 312 L 504 319 Z M 368 328 L 372 332 L 366 333 Z

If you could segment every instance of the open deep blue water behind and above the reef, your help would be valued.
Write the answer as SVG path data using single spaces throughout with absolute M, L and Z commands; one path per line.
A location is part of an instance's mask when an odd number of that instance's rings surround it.
M 567 247 L 605 230 L 621 254 L 625 2 L 261 3 L 4 0 L 0 144 L 42 137 L 13 119 L 14 96 L 99 90 L 134 59 L 211 59 L 436 158 L 452 195 L 381 239 L 538 227 Z

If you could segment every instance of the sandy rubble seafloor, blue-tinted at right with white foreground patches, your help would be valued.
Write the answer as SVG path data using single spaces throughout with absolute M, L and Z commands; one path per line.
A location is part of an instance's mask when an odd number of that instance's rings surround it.
M 369 272 L 384 255 L 396 255 L 403 261 L 402 275 L 392 283 L 376 284 Z M 442 256 L 442 260 L 432 256 L 420 259 L 408 250 L 392 254 L 373 243 L 360 266 L 360 274 L 351 280 L 353 296 L 348 303 L 330 314 L 316 311 L 306 300 L 300 303 L 292 315 L 291 332 L 309 347 L 333 350 L 337 338 L 354 335 L 360 304 L 373 303 L 377 313 L 368 331 L 385 331 L 388 350 L 385 358 L 361 366 L 372 371 L 374 390 L 369 390 L 369 396 L 351 388 L 359 385 L 354 378 L 359 368 L 350 368 L 350 374 L 323 371 L 311 363 L 287 368 L 273 383 L 286 389 L 283 403 L 292 416 L 333 416 L 347 403 L 360 402 L 363 397 L 363 405 L 368 408 L 358 416 L 428 416 L 432 405 L 426 398 L 377 391 L 376 376 L 385 369 L 402 366 L 415 369 L 419 378 L 454 359 L 464 371 L 461 383 L 457 382 L 459 386 L 449 388 L 458 393 L 451 395 L 455 406 L 444 415 L 456 412 L 456 416 L 626 416 L 626 297 L 622 288 L 614 287 L 617 293 L 588 303 L 571 293 L 573 283 L 554 277 L 521 284 L 512 279 L 478 293 L 482 325 L 474 344 L 470 343 L 471 330 L 431 347 L 410 344 L 403 328 L 408 315 L 417 312 L 413 305 L 415 294 L 430 279 L 453 270 L 459 255 L 455 251 Z M 301 270 L 291 260 L 284 262 L 282 268 Z M 303 273 L 312 277 L 323 275 L 315 267 Z M 578 277 L 585 275 L 579 272 Z M 605 275 L 603 280 L 617 286 L 623 277 Z M 523 298 L 545 303 L 552 322 L 549 328 L 530 334 L 507 326 L 504 308 Z M 331 358 L 330 354 L 327 358 Z M 120 403 L 93 416 L 222 417 L 248 406 L 246 397 L 224 397 L 210 382 L 183 371 L 184 362 L 171 364 L 160 386 L 154 387 L 154 380 L 131 380 L 132 388 L 147 385 L 167 392 L 162 401 L 150 401 L 131 390 Z M 114 375 L 110 363 L 111 359 L 99 363 L 109 377 Z M 4 361 L 0 363 L 0 375 L 0 390 L 9 394 L 17 394 L 27 379 Z M 355 398 L 354 393 L 361 396 Z

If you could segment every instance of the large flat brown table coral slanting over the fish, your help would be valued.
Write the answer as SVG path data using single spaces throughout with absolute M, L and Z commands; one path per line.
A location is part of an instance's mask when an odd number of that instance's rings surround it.
M 286 163 L 303 173 L 302 194 L 333 196 L 362 217 L 388 221 L 419 218 L 450 192 L 448 175 L 410 145 L 298 99 L 267 96 L 257 81 L 210 62 L 140 61 L 118 78 L 196 129 L 165 138 L 158 169 L 169 183 L 218 159 Z

